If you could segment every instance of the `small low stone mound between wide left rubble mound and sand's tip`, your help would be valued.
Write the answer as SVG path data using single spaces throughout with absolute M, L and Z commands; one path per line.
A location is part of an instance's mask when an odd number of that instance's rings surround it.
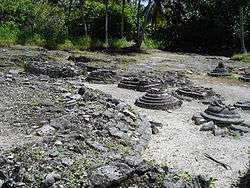
M 115 71 L 100 69 L 92 71 L 86 78 L 87 82 L 98 84 L 113 84 L 119 80 L 119 76 Z

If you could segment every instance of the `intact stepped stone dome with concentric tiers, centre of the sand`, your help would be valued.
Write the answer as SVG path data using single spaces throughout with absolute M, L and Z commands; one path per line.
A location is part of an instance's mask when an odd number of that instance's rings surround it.
M 161 89 L 150 89 L 145 95 L 135 101 L 135 105 L 156 110 L 177 109 L 182 105 L 182 101 L 168 94 Z

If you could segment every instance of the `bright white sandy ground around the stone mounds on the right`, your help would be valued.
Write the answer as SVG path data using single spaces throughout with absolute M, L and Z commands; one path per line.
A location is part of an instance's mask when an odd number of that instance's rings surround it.
M 207 83 L 211 87 L 213 84 L 207 80 L 196 81 Z M 143 93 L 132 90 L 118 88 L 117 85 L 86 84 L 88 87 L 100 89 L 113 97 L 123 99 L 132 105 L 135 110 L 146 114 L 150 120 L 163 123 L 160 133 L 153 136 L 148 149 L 143 157 L 147 160 L 155 160 L 159 164 L 167 164 L 180 171 L 187 171 L 190 174 L 204 174 L 217 179 L 215 187 L 226 188 L 242 176 L 248 167 L 250 136 L 245 134 L 240 138 L 215 137 L 211 132 L 199 131 L 199 126 L 194 125 L 191 117 L 196 112 L 206 109 L 206 106 L 198 101 L 184 102 L 180 109 L 172 113 L 166 111 L 149 110 L 139 108 L 134 105 L 136 98 Z M 228 86 L 217 83 L 213 85 L 215 91 L 226 99 L 227 103 L 232 103 L 238 99 L 250 100 L 250 87 Z M 250 114 L 241 114 L 248 121 Z M 215 159 L 231 166 L 231 170 L 226 170 L 217 163 L 207 159 L 207 153 Z

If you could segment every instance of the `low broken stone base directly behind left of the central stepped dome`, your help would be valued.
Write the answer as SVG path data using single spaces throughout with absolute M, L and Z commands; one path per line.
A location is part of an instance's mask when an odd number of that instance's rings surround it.
M 144 92 L 151 88 L 160 87 L 161 85 L 162 84 L 157 81 L 132 77 L 121 80 L 121 82 L 118 84 L 118 87 Z

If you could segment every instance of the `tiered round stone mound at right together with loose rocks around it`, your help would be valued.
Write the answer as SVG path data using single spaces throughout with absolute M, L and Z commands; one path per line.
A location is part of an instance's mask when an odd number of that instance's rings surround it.
M 225 105 L 220 100 L 214 101 L 204 112 L 195 114 L 192 120 L 196 125 L 201 125 L 200 131 L 213 131 L 215 136 L 249 132 L 237 108 Z

